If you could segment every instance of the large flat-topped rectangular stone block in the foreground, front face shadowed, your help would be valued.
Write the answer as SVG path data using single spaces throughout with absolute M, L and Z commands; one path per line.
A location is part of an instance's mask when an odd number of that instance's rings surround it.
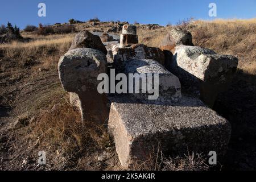
M 109 132 L 123 167 L 144 162 L 158 151 L 165 155 L 183 155 L 188 151 L 225 154 L 230 124 L 199 99 L 183 97 L 170 105 L 126 100 L 114 101 L 109 115 Z

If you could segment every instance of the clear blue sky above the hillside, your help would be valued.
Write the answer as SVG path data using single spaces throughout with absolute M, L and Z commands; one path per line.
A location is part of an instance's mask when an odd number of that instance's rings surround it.
M 10 21 L 24 28 L 64 23 L 69 19 L 86 21 L 97 16 L 102 21 L 176 24 L 188 18 L 213 19 L 209 3 L 216 3 L 216 18 L 256 18 L 256 0 L 0 0 L 0 24 Z M 38 16 L 38 4 L 46 4 L 46 17 Z

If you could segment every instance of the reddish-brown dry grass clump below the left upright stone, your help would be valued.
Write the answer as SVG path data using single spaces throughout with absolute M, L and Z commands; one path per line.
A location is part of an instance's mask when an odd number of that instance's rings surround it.
M 67 169 L 90 169 L 86 166 L 88 158 L 92 160 L 94 152 L 107 150 L 112 144 L 103 125 L 81 121 L 80 111 L 69 104 L 67 96 L 51 109 L 42 110 L 30 130 L 28 140 L 34 141 L 35 146 L 47 148 L 48 153 L 61 152 Z M 55 156 L 53 152 L 53 158 Z M 60 162 L 56 162 L 55 167 Z

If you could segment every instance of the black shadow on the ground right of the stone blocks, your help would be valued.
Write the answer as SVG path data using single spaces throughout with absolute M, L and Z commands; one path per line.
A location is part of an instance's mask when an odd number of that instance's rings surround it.
M 238 70 L 230 89 L 218 96 L 214 110 L 232 125 L 223 169 L 255 170 L 256 76 Z

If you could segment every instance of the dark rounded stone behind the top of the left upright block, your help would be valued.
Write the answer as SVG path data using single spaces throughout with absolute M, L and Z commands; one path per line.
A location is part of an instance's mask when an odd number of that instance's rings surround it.
M 75 36 L 69 51 L 76 48 L 92 48 L 103 52 L 105 55 L 108 53 L 104 44 L 101 42 L 101 38 L 86 30 L 79 32 Z

